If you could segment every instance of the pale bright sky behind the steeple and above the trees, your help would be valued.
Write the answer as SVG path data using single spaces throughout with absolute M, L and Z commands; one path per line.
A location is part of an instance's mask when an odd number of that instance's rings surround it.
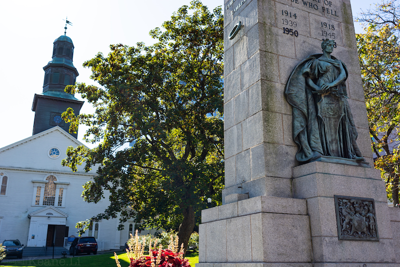
M 338 0 L 335 0 L 338 1 Z M 350 0 L 353 17 L 374 7 L 376 0 Z M 202 0 L 209 9 L 223 0 Z M 2 3 L 0 9 L 0 148 L 32 135 L 33 95 L 42 92 L 43 67 L 51 60 L 53 41 L 63 35 L 65 22 L 75 46 L 73 63 L 79 72 L 77 82 L 94 84 L 90 71 L 82 63 L 98 52 L 106 55 L 110 44 L 133 46 L 153 43 L 148 32 L 189 0 L 15 0 Z M 355 32 L 362 31 L 358 24 Z M 76 97 L 78 97 L 76 95 Z M 90 113 L 85 103 L 81 113 Z M 78 140 L 82 141 L 80 127 Z M 93 145 L 88 145 L 93 147 Z

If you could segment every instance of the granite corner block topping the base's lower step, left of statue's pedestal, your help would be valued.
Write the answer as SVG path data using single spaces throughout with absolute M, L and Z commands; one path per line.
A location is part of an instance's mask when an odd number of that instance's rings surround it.
M 237 202 L 239 216 L 259 212 L 307 215 L 305 199 L 257 196 Z

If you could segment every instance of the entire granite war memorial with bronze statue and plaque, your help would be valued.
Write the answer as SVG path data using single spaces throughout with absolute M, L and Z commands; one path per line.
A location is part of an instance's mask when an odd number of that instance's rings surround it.
M 225 188 L 196 267 L 400 266 L 350 1 L 224 2 Z

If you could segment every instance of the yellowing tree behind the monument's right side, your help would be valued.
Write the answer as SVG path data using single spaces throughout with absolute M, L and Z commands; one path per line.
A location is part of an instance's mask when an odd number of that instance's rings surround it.
M 364 34 L 356 35 L 369 133 L 375 166 L 382 170 L 393 204 L 399 202 L 400 177 L 400 6 L 383 1 L 358 19 Z

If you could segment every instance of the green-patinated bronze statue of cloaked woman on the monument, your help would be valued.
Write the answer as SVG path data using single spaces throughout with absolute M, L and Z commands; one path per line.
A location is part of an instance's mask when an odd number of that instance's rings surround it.
M 334 44 L 323 40 L 322 54 L 300 62 L 286 84 L 286 100 L 292 106 L 293 140 L 298 147 L 296 159 L 300 163 L 322 155 L 364 161 L 347 102 L 347 69 L 330 55 Z

